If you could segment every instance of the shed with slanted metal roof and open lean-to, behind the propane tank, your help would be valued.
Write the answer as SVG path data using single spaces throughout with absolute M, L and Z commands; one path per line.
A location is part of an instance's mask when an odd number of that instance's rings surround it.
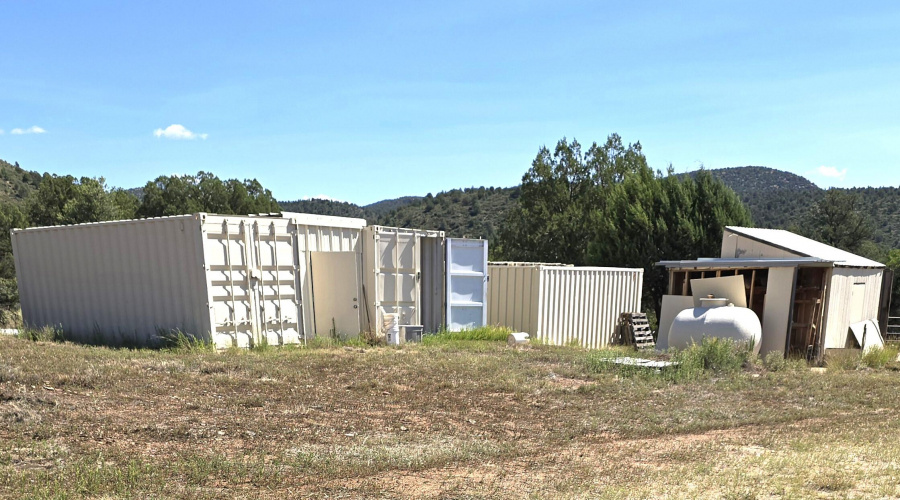
M 748 306 L 763 324 L 761 354 L 776 351 L 820 359 L 827 349 L 852 347 L 850 325 L 877 321 L 884 265 L 780 229 L 729 226 L 720 258 L 663 261 L 669 294 L 663 297 L 660 346 L 666 325 L 690 307 L 691 280 L 742 275 Z M 671 304 L 667 307 L 667 303 Z

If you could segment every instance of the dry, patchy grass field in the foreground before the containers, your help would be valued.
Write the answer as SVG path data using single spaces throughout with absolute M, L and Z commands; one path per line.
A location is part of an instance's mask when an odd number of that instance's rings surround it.
M 751 360 L 673 377 L 611 368 L 609 355 L 489 341 L 212 352 L 3 337 L 0 494 L 900 497 L 892 359 L 845 357 L 825 373 Z

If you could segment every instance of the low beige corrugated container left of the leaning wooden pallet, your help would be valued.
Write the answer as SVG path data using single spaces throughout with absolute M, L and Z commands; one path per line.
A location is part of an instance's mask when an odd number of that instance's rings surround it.
M 641 308 L 643 269 L 488 265 L 488 322 L 556 345 L 608 345 L 623 312 Z

